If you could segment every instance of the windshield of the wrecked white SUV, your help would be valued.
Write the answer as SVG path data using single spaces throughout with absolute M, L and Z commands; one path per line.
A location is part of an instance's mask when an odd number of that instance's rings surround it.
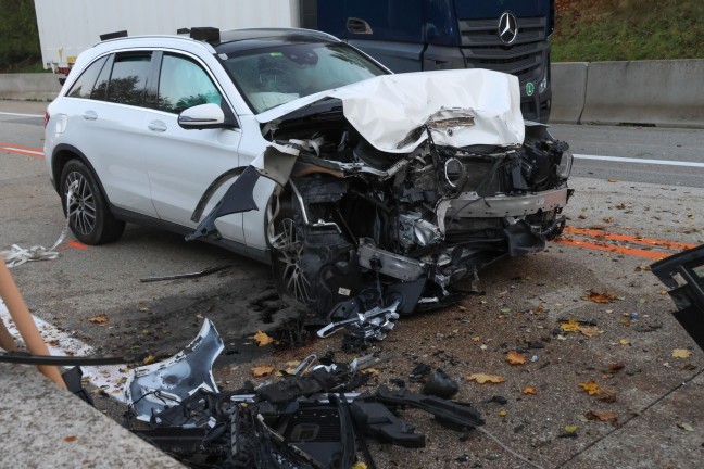
M 387 74 L 354 49 L 326 42 L 237 51 L 227 54 L 223 64 L 256 114 L 309 94 Z

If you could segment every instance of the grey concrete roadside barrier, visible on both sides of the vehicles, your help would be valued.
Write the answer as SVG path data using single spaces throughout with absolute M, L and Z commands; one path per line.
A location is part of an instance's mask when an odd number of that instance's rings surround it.
M 551 122 L 704 128 L 704 59 L 552 64 Z M 51 101 L 52 74 L 0 75 L 0 99 Z

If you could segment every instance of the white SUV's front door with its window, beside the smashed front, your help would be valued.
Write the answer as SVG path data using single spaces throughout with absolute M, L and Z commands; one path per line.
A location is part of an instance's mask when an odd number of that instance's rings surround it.
M 159 217 L 194 228 L 200 220 L 191 220 L 191 215 L 211 182 L 239 166 L 237 151 L 242 132 L 240 128 L 181 128 L 178 114 L 198 104 L 216 103 L 231 116 L 235 114 L 202 62 L 183 53 L 158 53 L 161 72 L 153 89 L 154 109 L 144 123 L 150 136 L 144 168 Z M 224 185 L 213 194 L 203 216 L 229 186 Z M 242 214 L 225 216 L 216 225 L 224 238 L 243 242 Z

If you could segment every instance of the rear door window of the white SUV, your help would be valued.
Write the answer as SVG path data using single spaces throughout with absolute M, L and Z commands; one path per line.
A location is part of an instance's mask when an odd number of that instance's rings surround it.
M 143 105 L 150 62 L 151 52 L 116 54 L 106 100 L 120 104 Z

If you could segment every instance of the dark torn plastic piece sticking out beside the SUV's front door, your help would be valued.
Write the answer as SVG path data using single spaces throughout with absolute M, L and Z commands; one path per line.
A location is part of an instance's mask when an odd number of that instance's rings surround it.
M 199 238 L 217 233 L 215 220 L 225 215 L 259 210 L 254 202 L 254 186 L 260 174 L 254 166 L 248 166 L 232 186 L 227 189 L 223 199 L 215 204 L 213 210 L 203 220 L 198 224 L 192 233 L 186 237 L 186 241 L 194 241 Z

